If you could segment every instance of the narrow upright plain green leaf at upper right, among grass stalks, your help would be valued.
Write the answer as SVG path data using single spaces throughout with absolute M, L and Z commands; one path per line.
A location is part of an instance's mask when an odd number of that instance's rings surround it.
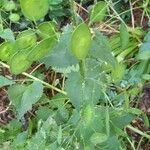
M 124 23 L 122 23 L 120 25 L 120 42 L 121 42 L 121 48 L 122 49 L 125 49 L 128 47 L 128 44 L 129 44 L 129 32 L 128 32 L 128 29 L 127 27 L 125 26 Z

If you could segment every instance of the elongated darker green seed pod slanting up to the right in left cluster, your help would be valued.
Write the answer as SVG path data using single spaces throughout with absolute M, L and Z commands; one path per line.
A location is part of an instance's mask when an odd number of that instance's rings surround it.
M 32 61 L 37 61 L 44 57 L 55 45 L 55 38 L 48 38 L 39 42 L 29 53 L 28 58 Z

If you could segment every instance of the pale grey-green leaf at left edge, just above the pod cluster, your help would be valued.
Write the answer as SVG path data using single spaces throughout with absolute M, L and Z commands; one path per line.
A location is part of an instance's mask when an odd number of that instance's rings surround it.
M 9 41 L 15 41 L 15 37 L 11 29 L 4 29 L 0 31 L 0 37 L 9 40 Z

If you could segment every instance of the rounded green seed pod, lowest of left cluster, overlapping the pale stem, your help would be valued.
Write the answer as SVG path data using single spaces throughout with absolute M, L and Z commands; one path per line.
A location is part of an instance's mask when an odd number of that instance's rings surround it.
M 15 75 L 20 74 L 26 71 L 31 64 L 32 62 L 27 59 L 26 51 L 16 53 L 10 61 L 11 73 Z

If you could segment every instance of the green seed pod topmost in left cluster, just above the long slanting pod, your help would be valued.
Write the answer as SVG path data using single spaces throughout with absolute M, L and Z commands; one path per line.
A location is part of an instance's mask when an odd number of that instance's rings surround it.
M 52 22 L 41 23 L 38 26 L 37 32 L 43 39 L 50 37 L 55 37 L 57 39 L 57 35 L 55 32 L 55 25 Z

